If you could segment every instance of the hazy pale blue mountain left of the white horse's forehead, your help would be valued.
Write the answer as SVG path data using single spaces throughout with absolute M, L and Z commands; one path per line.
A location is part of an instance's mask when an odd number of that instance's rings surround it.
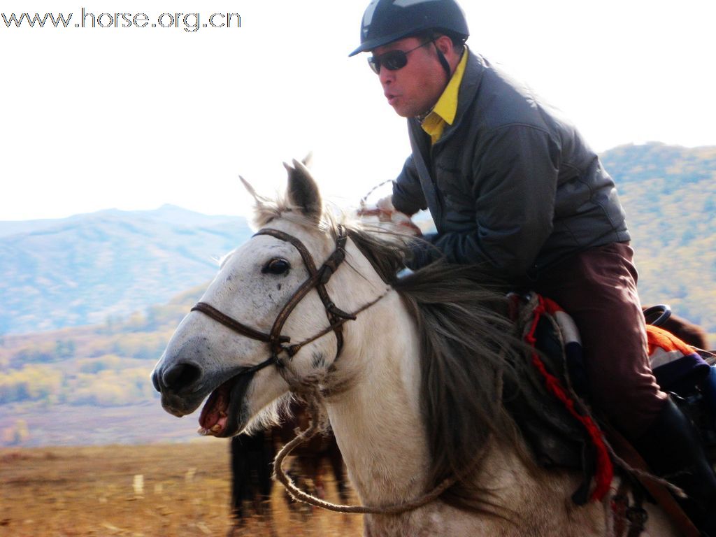
M 0 334 L 97 324 L 168 301 L 216 274 L 250 236 L 238 216 L 172 205 L 0 222 Z

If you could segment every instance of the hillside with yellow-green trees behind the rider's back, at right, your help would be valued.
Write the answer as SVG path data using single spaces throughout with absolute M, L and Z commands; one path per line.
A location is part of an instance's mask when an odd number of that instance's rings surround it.
M 716 147 L 625 145 L 602 155 L 627 211 L 644 304 L 666 302 L 716 341 Z

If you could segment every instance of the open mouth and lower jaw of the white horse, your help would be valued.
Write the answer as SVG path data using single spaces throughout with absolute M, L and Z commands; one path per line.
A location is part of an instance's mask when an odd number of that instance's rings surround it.
M 200 435 L 226 438 L 239 432 L 243 397 L 252 378 L 253 373 L 236 374 L 211 392 L 199 415 Z

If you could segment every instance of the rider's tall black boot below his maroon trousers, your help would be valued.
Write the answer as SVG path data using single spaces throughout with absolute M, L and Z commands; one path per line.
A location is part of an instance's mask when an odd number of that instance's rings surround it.
M 677 501 L 699 531 L 716 537 L 716 474 L 694 425 L 671 399 L 634 447 L 654 473 L 686 493 Z

